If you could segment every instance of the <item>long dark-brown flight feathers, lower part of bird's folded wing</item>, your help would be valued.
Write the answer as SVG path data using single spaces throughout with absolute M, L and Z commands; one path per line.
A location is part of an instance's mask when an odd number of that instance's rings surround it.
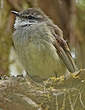
M 60 58 L 62 59 L 63 63 L 66 65 L 68 70 L 71 73 L 74 73 L 75 71 L 77 71 L 77 67 L 71 56 L 70 51 L 65 47 L 62 47 L 58 42 L 56 42 L 54 46 L 56 47 L 58 55 L 60 56 Z

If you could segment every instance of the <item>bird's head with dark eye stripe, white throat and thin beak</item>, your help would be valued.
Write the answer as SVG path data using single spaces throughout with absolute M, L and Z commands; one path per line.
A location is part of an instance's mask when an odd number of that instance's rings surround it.
M 15 29 L 36 25 L 37 23 L 41 23 L 46 20 L 45 14 L 40 9 L 29 8 L 21 12 L 12 11 L 12 13 L 16 16 L 14 24 Z

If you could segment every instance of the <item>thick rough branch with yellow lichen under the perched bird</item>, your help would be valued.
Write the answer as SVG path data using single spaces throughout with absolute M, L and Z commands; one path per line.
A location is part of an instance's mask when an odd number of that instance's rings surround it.
M 51 78 L 42 85 L 22 77 L 2 79 L 0 109 L 85 109 L 85 70 L 80 70 L 75 78 L 70 76 L 69 79 L 61 79 Z

